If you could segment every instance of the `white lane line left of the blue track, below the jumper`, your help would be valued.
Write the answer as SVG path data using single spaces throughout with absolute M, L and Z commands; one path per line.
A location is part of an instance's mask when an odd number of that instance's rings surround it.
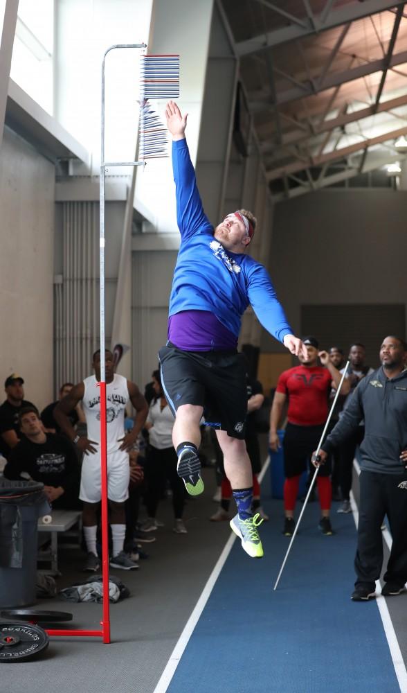
M 264 462 L 262 466 L 262 471 L 259 474 L 259 483 L 261 484 L 264 474 L 266 473 L 267 469 L 269 468 L 270 464 L 270 458 L 267 457 L 266 461 Z M 203 588 L 201 592 L 201 596 L 199 597 L 197 604 L 195 604 L 195 607 L 188 618 L 188 621 L 186 622 L 186 625 L 179 636 L 179 640 L 177 644 L 175 645 L 174 649 L 172 650 L 172 653 L 170 655 L 170 659 L 168 660 L 168 663 L 165 665 L 165 669 L 163 673 L 161 674 L 159 683 L 157 683 L 156 687 L 154 688 L 154 693 L 165 693 L 165 691 L 168 689 L 168 686 L 171 683 L 172 677 L 175 674 L 175 671 L 179 665 L 179 662 L 181 660 L 181 657 L 183 656 L 183 652 L 186 649 L 186 646 L 188 645 L 188 642 L 190 640 L 190 637 L 192 633 L 195 630 L 195 626 L 197 625 L 197 622 L 199 621 L 199 618 L 201 617 L 201 613 L 203 609 L 206 606 L 206 602 L 208 602 L 208 599 L 210 597 L 210 593 L 212 592 L 213 588 L 215 587 L 216 581 L 219 577 L 219 574 L 221 572 L 221 569 L 224 567 L 224 564 L 226 562 L 226 559 L 228 555 L 230 554 L 230 550 L 233 547 L 233 543 L 235 542 L 236 535 L 230 534 L 230 537 L 228 538 L 228 541 L 226 542 L 226 545 L 224 547 L 224 550 L 221 552 L 219 559 L 217 559 L 217 563 L 215 565 L 215 568 L 212 570 L 210 573 L 210 576 L 208 578 L 208 581 Z

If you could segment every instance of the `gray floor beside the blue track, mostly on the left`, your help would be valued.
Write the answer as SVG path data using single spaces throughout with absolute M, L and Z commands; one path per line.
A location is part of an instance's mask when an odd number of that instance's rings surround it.
M 1 667 L 2 692 L 153 693 L 230 536 L 228 523 L 208 520 L 217 508 L 212 501 L 213 468 L 204 468 L 203 478 L 206 484 L 203 495 L 188 499 L 185 513 L 188 534 L 172 532 L 172 506 L 169 499 L 164 500 L 158 517 L 165 527 L 155 532 L 156 542 L 145 545 L 149 558 L 140 561 L 138 571 L 111 571 L 131 592 L 129 599 L 111 605 L 111 644 L 91 638 L 52 638 L 48 651 L 39 660 Z M 357 500 L 357 479 L 354 482 Z M 270 493 L 269 473 L 262 492 L 264 496 Z M 276 514 L 271 517 L 271 522 L 281 522 L 280 511 L 278 517 Z M 387 558 L 385 547 L 385 561 Z M 60 551 L 63 574 L 58 580 L 59 588 L 87 578 L 87 574 L 80 572 L 83 560 L 84 554 L 79 551 Z M 351 585 L 352 565 L 349 573 Z M 389 597 L 386 602 L 406 660 L 407 593 Z M 100 604 L 71 604 L 60 597 L 42 600 L 37 608 L 71 611 L 75 628 L 98 628 L 102 617 Z M 180 693 L 192 691 L 191 688 Z

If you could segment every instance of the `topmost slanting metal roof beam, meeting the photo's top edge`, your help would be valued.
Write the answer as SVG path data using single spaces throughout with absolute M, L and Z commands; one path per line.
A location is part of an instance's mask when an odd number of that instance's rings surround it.
M 275 10 L 275 12 L 278 11 L 282 14 L 282 10 L 275 8 L 271 3 L 267 3 L 264 0 L 262 0 L 262 3 L 270 9 Z M 293 39 L 309 36 L 314 33 L 319 33 L 320 31 L 326 31 L 327 29 L 335 28 L 341 24 L 346 24 L 348 21 L 363 19 L 363 17 L 375 15 L 377 12 L 390 10 L 400 5 L 404 5 L 404 2 L 397 2 L 397 0 L 370 0 L 366 3 L 354 2 L 338 8 L 337 10 L 332 10 L 332 3 L 327 3 L 325 10 L 320 13 L 319 17 L 316 15 L 314 15 L 313 19 L 307 17 L 303 22 L 297 17 L 291 17 L 293 24 L 289 24 L 289 26 L 275 29 L 266 34 L 263 33 L 254 36 L 246 41 L 237 42 L 236 52 L 237 55 L 242 56 L 250 55 L 257 51 L 264 51 L 272 46 L 278 46 L 279 44 L 292 41 Z

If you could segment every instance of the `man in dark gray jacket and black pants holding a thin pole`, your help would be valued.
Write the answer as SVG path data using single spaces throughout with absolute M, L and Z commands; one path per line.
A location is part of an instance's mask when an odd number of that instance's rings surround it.
M 399 595 L 407 581 L 407 344 L 390 335 L 380 347 L 381 368 L 361 380 L 314 464 L 323 464 L 365 420 L 360 446 L 361 474 L 356 582 L 352 599 L 375 596 L 383 563 L 381 524 L 387 514 L 392 550 L 382 595 Z

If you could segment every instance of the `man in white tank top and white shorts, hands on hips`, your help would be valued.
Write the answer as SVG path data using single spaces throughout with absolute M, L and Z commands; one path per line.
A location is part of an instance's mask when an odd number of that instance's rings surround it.
M 71 392 L 55 407 L 55 421 L 62 431 L 84 453 L 80 480 L 80 500 L 83 501 L 83 529 L 87 545 L 85 570 L 96 572 L 100 560 L 96 551 L 98 509 L 101 499 L 100 479 L 100 350 L 93 354 L 95 374 L 75 385 Z M 112 568 L 134 570 L 138 568 L 123 551 L 125 542 L 125 500 L 129 495 L 129 450 L 147 418 L 148 406 L 136 383 L 114 372 L 111 351 L 105 356 L 107 398 L 107 496 L 109 499 L 113 556 Z M 79 436 L 71 426 L 67 414 L 82 401 L 87 420 L 87 436 Z M 136 410 L 134 427 L 125 433 L 125 407 L 131 401 Z M 73 404 L 74 403 L 74 404 Z

